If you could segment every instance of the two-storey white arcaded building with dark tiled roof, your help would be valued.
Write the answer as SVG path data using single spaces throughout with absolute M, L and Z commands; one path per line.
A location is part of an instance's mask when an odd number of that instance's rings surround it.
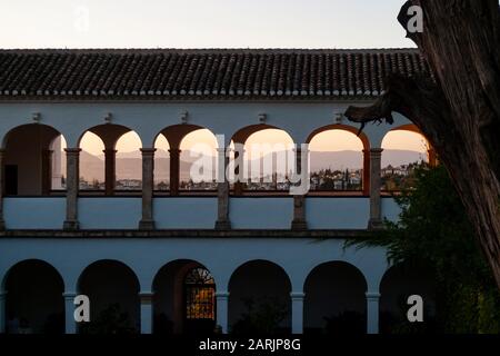
M 231 142 L 278 128 L 303 154 L 320 132 L 356 134 L 341 113 L 373 102 L 387 72 L 426 68 L 414 50 L 0 51 L 0 333 L 18 324 L 83 332 L 78 294 L 90 297 L 92 319 L 118 304 L 146 334 L 244 329 L 248 300 L 279 307 L 283 333 L 378 333 L 400 295 L 427 287 L 390 269 L 383 249 L 344 243 L 398 217 L 380 192 L 381 142 L 390 130 L 416 130 L 404 117 L 364 129 L 363 189 L 350 195 L 250 192 L 223 180 L 187 194 L 180 144 L 208 129 L 223 137 L 218 161 L 228 165 Z M 93 194 L 78 188 L 89 130 L 106 156 L 106 189 Z M 114 188 L 114 157 L 129 131 L 142 142 L 142 189 L 124 194 Z M 170 147 L 161 192 L 159 135 Z M 354 326 L 342 324 L 349 316 Z

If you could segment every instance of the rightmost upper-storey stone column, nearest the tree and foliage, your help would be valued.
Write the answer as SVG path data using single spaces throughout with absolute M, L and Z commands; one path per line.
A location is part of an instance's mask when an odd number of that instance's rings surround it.
M 381 148 L 372 148 L 370 150 L 370 220 L 369 229 L 382 228 L 382 200 L 380 198 L 381 187 Z

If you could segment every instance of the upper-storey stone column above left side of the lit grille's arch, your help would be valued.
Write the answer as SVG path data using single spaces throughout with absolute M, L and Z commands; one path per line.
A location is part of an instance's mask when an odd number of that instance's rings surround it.
M 154 148 L 141 148 L 142 152 L 142 219 L 139 229 L 153 230 Z

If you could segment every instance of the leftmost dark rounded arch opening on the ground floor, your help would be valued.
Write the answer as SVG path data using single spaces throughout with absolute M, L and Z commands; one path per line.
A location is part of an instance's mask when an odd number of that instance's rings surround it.
M 41 259 L 11 266 L 2 280 L 7 333 L 62 334 L 64 281 L 58 269 Z

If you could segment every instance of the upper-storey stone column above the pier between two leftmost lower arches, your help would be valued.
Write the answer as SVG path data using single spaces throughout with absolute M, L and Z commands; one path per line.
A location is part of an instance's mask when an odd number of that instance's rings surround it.
M 80 185 L 80 148 L 66 148 L 66 221 L 64 230 L 78 230 L 78 189 Z

